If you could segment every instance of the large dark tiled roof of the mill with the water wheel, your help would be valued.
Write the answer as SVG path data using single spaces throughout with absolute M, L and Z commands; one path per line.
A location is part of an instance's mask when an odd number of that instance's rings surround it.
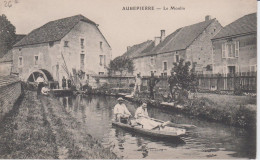
M 95 22 L 82 15 L 58 19 L 33 30 L 14 47 L 61 40 L 79 21 L 96 25 Z

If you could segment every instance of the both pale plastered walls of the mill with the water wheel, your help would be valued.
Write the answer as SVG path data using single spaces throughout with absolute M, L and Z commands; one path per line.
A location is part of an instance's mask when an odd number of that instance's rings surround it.
M 84 39 L 83 43 L 81 39 Z M 64 43 L 67 43 L 67 46 Z M 81 54 L 84 54 L 83 68 Z M 81 69 L 87 74 L 106 74 L 106 66 L 111 61 L 112 50 L 95 25 L 80 21 L 60 41 L 15 47 L 13 72 L 19 73 L 20 78 L 27 81 L 32 72 L 44 69 L 61 84 L 62 77 L 68 77 L 62 67 L 65 66 L 62 55 L 72 75 L 72 68 L 77 71 Z M 38 57 L 37 64 L 35 57 Z

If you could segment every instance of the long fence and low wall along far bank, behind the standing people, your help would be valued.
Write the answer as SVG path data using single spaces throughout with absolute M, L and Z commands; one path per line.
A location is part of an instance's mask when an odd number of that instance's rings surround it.
M 111 88 L 131 87 L 135 83 L 135 77 L 113 76 L 113 77 L 95 77 L 98 79 L 98 86 L 107 85 Z M 167 77 L 159 77 L 160 81 L 156 88 L 168 90 Z M 142 90 L 147 90 L 149 77 L 142 77 Z M 198 74 L 198 90 L 200 91 L 235 91 L 256 92 L 257 73 L 242 72 L 236 74 Z

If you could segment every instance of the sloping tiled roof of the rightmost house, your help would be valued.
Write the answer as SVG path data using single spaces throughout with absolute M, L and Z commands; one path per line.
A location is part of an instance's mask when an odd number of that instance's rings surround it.
M 256 13 L 245 15 L 236 21 L 225 26 L 213 39 L 232 37 L 236 35 L 256 33 L 257 19 Z

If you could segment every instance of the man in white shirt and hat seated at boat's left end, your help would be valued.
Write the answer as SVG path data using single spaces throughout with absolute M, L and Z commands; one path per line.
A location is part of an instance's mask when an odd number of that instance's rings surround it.
M 120 97 L 117 99 L 117 101 L 118 104 L 116 104 L 114 108 L 115 120 L 121 123 L 127 123 L 129 117 L 131 116 L 131 113 L 126 108 L 126 105 L 123 103 L 123 98 Z

